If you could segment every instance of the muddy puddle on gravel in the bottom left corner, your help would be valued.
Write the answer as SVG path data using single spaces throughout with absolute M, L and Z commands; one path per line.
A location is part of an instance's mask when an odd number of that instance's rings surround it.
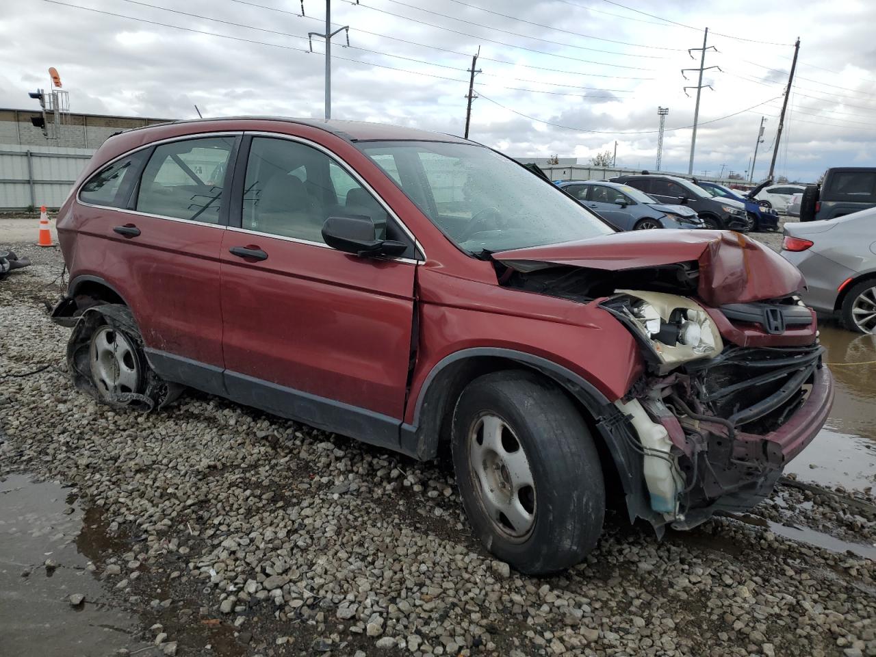
M 107 548 L 94 523 L 60 484 L 0 481 L 0 653 L 70 657 L 145 646 L 134 636 L 137 618 L 112 604 L 87 569 Z M 83 602 L 74 607 L 71 596 Z

